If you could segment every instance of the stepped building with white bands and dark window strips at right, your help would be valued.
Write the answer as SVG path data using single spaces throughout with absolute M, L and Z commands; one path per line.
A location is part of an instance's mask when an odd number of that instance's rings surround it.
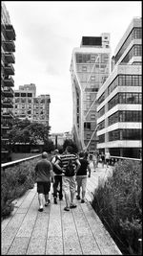
M 97 93 L 99 151 L 139 158 L 142 138 L 142 25 L 133 18 L 112 57 L 112 73 Z

